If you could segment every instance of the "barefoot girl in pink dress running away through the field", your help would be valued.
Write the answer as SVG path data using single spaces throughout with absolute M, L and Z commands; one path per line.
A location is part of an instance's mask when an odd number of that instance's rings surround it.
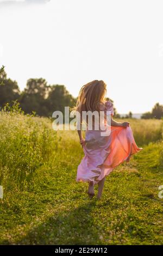
M 104 101 L 105 94 L 106 84 L 104 81 L 94 80 L 87 83 L 80 89 L 75 108 L 81 117 L 78 135 L 85 153 L 78 166 L 76 181 L 89 182 L 87 193 L 90 198 L 95 196 L 94 185 L 98 184 L 98 199 L 102 196 L 105 178 L 112 169 L 123 161 L 128 162 L 131 155 L 142 149 L 137 147 L 129 123 L 120 123 L 112 119 L 112 115 L 114 115 L 113 105 L 110 100 Z M 106 114 L 108 114 L 106 111 L 110 111 L 110 135 L 102 136 L 102 130 L 95 129 L 94 125 L 92 130 L 86 128 L 84 139 L 81 130 L 83 111 L 98 111 L 98 113 L 104 111 L 105 124 Z M 93 124 L 95 124 L 95 120 Z

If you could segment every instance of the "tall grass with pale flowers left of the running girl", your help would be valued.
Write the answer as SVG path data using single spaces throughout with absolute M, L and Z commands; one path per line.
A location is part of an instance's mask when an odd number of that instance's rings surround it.
M 27 188 L 56 149 L 56 132 L 47 118 L 2 111 L 0 120 L 0 184 L 5 190 Z

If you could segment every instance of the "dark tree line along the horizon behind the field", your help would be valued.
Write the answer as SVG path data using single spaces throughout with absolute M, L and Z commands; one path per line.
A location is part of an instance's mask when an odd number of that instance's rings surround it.
M 20 103 L 24 113 L 35 112 L 40 116 L 52 117 L 52 113 L 56 110 L 64 112 L 65 106 L 74 107 L 77 98 L 73 97 L 64 85 L 49 85 L 44 78 L 30 78 L 26 88 L 21 92 L 17 82 L 7 77 L 3 66 L 0 69 L 0 109 L 6 103 L 12 106 L 15 101 Z M 116 108 L 114 113 L 116 118 L 120 118 Z M 162 117 L 163 105 L 159 103 L 155 104 L 151 112 L 143 113 L 141 116 L 143 119 L 161 119 Z M 129 112 L 125 118 L 132 118 L 132 113 Z

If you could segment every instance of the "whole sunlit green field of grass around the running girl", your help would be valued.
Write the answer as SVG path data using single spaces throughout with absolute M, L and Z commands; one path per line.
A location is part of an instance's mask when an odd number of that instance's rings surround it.
M 76 131 L 18 113 L 0 120 L 1 245 L 163 244 L 161 120 L 126 119 L 143 150 L 107 176 L 101 200 L 76 182 Z

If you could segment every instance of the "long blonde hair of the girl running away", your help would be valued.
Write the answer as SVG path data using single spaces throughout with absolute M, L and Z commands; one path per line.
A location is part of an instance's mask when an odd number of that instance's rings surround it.
M 106 84 L 103 80 L 93 80 L 82 86 L 79 92 L 75 111 L 99 111 L 100 103 L 104 103 Z

